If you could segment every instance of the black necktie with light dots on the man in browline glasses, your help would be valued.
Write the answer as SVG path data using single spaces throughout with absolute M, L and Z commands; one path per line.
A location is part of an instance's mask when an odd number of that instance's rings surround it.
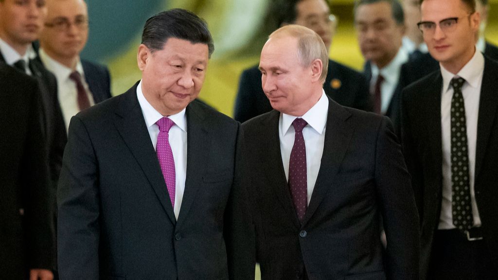
M 465 80 L 451 80 L 451 185 L 453 225 L 465 232 L 474 224 L 469 183 L 469 153 L 467 144 L 467 121 L 465 117 L 462 86 Z

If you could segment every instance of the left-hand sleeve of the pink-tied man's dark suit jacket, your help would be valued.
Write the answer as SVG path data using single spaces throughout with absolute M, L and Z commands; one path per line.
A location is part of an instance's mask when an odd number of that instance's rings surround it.
M 99 182 L 97 158 L 78 116 L 69 126 L 57 193 L 60 280 L 99 279 Z

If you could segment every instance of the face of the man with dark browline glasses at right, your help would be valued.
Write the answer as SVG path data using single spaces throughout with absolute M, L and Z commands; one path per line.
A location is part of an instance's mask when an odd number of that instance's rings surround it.
M 421 4 L 422 21 L 435 22 L 434 32 L 424 32 L 429 52 L 445 69 L 456 74 L 475 53 L 479 13 L 470 13 L 461 0 L 424 0 Z M 458 17 L 455 28 L 443 32 L 441 20 Z

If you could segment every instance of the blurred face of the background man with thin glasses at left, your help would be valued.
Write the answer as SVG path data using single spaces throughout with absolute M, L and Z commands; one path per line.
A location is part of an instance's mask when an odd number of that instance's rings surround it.
M 83 0 L 48 0 L 47 8 L 46 22 L 53 26 L 46 26 L 41 33 L 41 47 L 53 59 L 73 68 L 88 39 L 87 5 Z M 61 30 L 57 25 L 62 22 L 70 22 L 69 28 Z

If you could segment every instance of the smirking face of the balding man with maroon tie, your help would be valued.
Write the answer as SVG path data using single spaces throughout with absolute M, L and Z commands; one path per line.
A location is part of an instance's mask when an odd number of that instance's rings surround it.
M 322 93 L 322 69 L 317 73 L 313 64 L 301 64 L 297 42 L 298 39 L 291 36 L 270 38 L 263 46 L 259 61 L 263 91 L 271 107 L 292 116 L 304 115 Z

